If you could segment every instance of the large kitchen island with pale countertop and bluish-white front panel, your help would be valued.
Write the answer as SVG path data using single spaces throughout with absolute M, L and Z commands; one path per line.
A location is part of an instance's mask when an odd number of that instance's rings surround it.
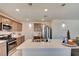
M 49 42 L 32 42 L 26 40 L 16 48 L 12 56 L 71 56 L 71 49 L 78 47 L 67 47 L 60 39 L 52 39 Z

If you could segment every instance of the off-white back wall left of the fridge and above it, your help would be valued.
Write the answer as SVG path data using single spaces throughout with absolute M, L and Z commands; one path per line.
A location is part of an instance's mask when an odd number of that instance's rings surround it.
M 37 22 L 23 22 L 23 34 L 25 35 L 26 39 L 33 39 L 34 36 L 34 26 L 33 23 L 37 23 Z M 40 23 L 40 22 L 38 22 Z M 48 26 L 50 26 L 50 22 L 41 22 L 43 24 L 46 24 Z M 29 27 L 29 24 L 31 24 L 32 26 Z

